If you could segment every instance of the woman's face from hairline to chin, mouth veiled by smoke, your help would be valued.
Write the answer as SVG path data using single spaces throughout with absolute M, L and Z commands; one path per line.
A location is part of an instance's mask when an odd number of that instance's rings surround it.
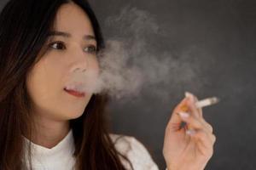
M 90 19 L 75 3 L 59 8 L 55 31 L 64 33 L 49 36 L 47 52 L 29 72 L 26 88 L 32 98 L 32 113 L 65 121 L 81 116 L 92 95 L 76 97 L 64 88 L 74 71 L 98 73 L 96 39 Z

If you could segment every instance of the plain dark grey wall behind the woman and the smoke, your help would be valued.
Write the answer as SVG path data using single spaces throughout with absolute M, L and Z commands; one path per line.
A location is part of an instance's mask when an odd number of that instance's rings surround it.
M 1 0 L 0 6 L 7 1 Z M 147 11 L 164 36 L 148 37 L 155 51 L 172 57 L 187 54 L 185 62 L 196 77 L 166 91 L 160 100 L 143 93 L 136 102 L 111 102 L 115 133 L 135 136 L 151 152 L 160 169 L 166 167 L 162 146 L 172 109 L 188 90 L 202 99 L 216 95 L 218 105 L 204 109 L 217 142 L 206 169 L 253 170 L 256 168 L 256 1 L 249 0 L 90 0 L 103 34 L 113 37 L 118 26 L 106 26 L 108 16 L 130 6 Z M 122 37 L 121 32 L 116 32 Z M 177 77 L 172 77 L 175 82 Z M 154 87 L 152 88 L 154 90 Z

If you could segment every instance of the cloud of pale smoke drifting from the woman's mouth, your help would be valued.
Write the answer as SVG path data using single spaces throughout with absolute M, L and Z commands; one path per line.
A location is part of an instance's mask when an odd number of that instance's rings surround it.
M 96 73 L 86 73 L 84 80 L 91 79 L 80 87 L 84 91 L 95 94 L 107 91 L 118 99 L 148 91 L 155 97 L 168 99 L 170 88 L 177 89 L 195 79 L 188 51 L 175 58 L 167 49 L 162 51 L 148 44 L 150 37 L 165 37 L 166 32 L 160 30 L 146 11 L 126 7 L 118 16 L 108 17 L 106 26 L 113 37 L 108 37 L 106 48 L 100 53 L 101 72 L 97 79 Z

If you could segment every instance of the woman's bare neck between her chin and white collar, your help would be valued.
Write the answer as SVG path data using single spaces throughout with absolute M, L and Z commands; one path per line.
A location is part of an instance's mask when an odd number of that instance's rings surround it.
M 32 142 L 49 149 L 64 139 L 70 130 L 68 121 L 53 121 L 44 117 L 36 119 L 35 125 Z

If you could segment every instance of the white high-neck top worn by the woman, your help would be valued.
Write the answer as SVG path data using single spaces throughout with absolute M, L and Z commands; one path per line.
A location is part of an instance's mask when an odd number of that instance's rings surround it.
M 137 139 L 131 136 L 119 138 L 118 134 L 110 134 L 110 138 L 115 143 L 116 150 L 131 161 L 135 170 L 159 170 L 154 163 L 148 150 Z M 25 150 L 29 149 L 29 140 L 25 139 Z M 73 170 L 75 157 L 73 157 L 74 143 L 72 130 L 67 133 L 67 136 L 55 147 L 49 149 L 44 146 L 31 142 L 32 151 L 32 168 L 33 170 Z M 28 152 L 25 152 L 24 161 L 26 166 L 30 167 Z M 126 169 L 131 169 L 128 162 L 119 156 Z

